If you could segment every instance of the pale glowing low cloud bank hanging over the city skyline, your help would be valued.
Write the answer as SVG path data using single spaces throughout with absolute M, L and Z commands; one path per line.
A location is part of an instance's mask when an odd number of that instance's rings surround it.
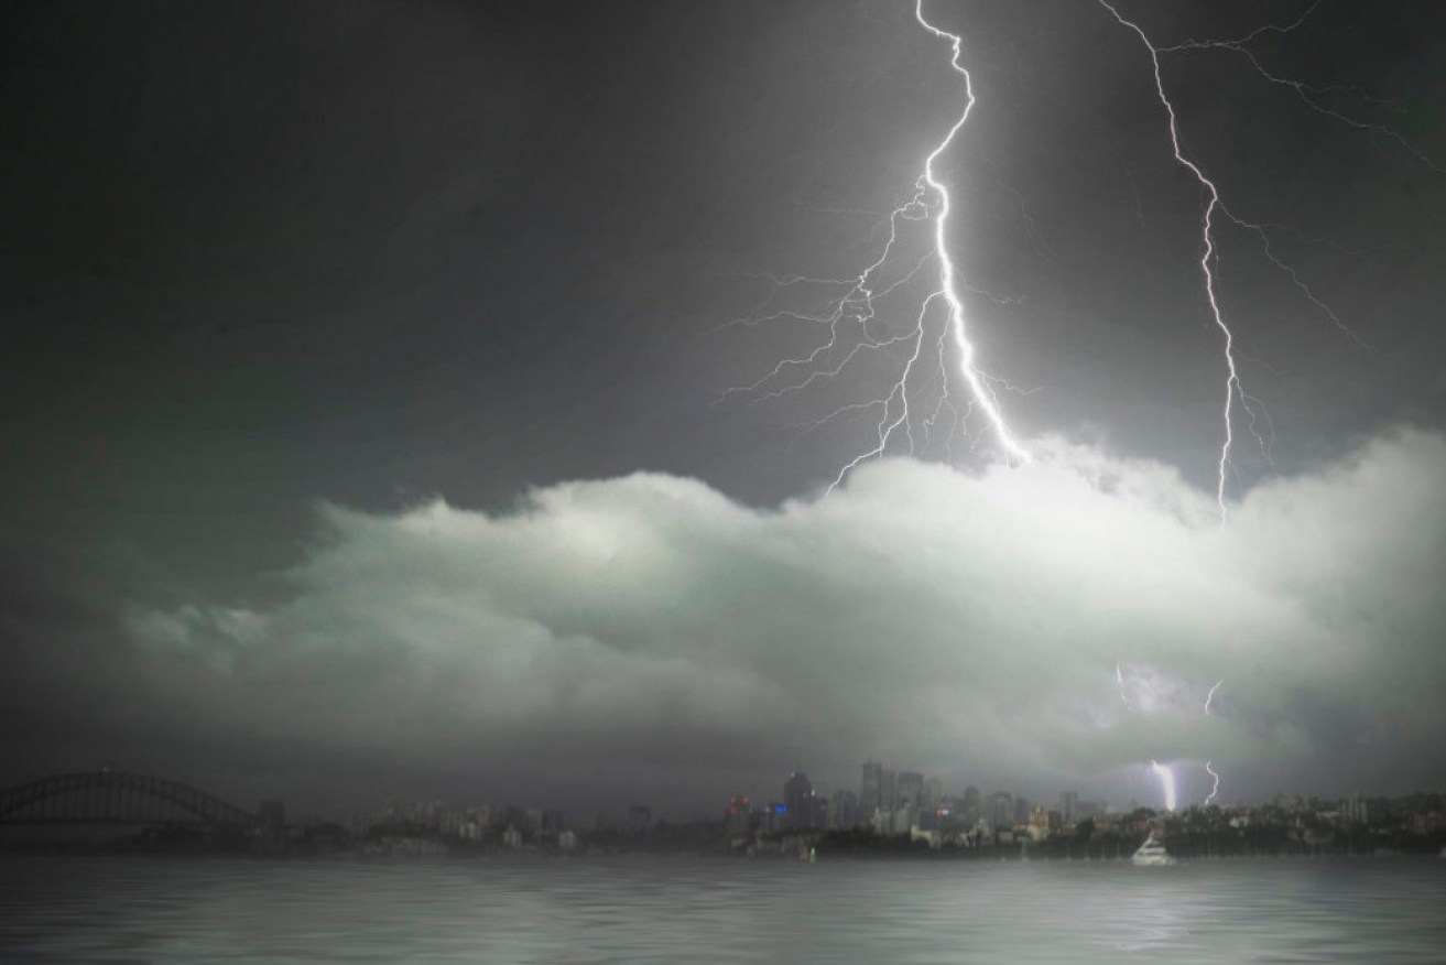
M 869 464 L 775 509 L 652 473 L 497 514 L 325 505 L 286 602 L 126 626 L 165 699 L 383 764 L 1440 783 L 1443 480 L 1446 440 L 1406 430 L 1223 527 L 1171 469 L 1058 441 L 977 475 Z

